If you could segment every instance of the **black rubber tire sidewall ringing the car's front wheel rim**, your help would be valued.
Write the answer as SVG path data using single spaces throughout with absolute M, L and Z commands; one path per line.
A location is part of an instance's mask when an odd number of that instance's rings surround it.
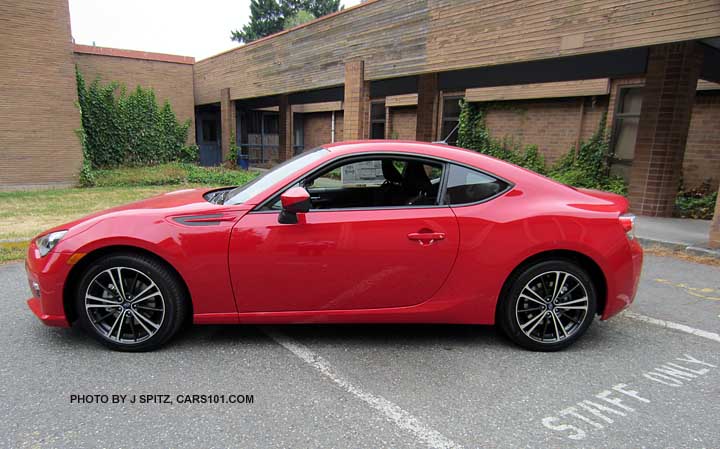
M 92 324 L 85 308 L 85 294 L 92 280 L 102 271 L 113 267 L 127 267 L 140 271 L 155 282 L 162 293 L 165 314 L 160 329 L 152 337 L 140 343 L 118 343 L 108 339 Z M 181 319 L 178 303 L 182 300 L 182 292 L 169 270 L 152 260 L 134 255 L 118 254 L 97 260 L 83 273 L 75 292 L 75 307 L 82 328 L 105 346 L 119 351 L 148 351 L 159 347 L 172 337 L 180 324 L 177 322 Z

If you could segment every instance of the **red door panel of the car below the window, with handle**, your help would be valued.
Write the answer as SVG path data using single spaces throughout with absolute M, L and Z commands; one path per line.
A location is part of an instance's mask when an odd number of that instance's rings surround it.
M 233 228 L 229 266 L 241 313 L 419 304 L 443 285 L 459 246 L 447 206 L 353 202 L 311 209 L 290 225 L 278 213 L 254 211 Z

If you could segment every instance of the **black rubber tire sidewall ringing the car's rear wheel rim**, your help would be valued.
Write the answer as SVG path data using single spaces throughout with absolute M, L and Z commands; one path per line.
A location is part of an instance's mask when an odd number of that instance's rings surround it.
M 583 284 L 588 295 L 588 310 L 580 328 L 570 337 L 556 343 L 541 343 L 531 339 L 520 329 L 520 325 L 515 316 L 517 303 L 520 300 L 520 292 L 525 285 L 536 276 L 548 271 L 565 271 L 572 274 Z M 519 274 L 513 278 L 507 292 L 501 308 L 501 327 L 511 340 L 533 351 L 558 351 L 572 345 L 587 331 L 588 327 L 590 327 L 597 310 L 597 290 L 595 289 L 592 279 L 584 269 L 568 260 L 539 262 L 521 270 Z

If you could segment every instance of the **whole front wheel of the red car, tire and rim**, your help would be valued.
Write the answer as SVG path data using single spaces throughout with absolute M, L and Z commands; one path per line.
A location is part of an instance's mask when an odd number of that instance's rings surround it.
M 186 321 L 190 300 L 178 276 L 148 256 L 103 256 L 83 273 L 75 293 L 82 328 L 117 351 L 151 351 Z

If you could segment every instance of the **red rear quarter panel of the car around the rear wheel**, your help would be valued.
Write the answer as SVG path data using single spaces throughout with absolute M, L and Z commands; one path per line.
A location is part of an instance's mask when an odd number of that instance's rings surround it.
M 501 290 L 515 268 L 539 253 L 568 250 L 590 257 L 600 267 L 608 304 L 618 297 L 628 303 L 634 294 L 633 263 L 617 220 L 619 212 L 577 207 L 568 198 L 574 193 L 570 192 L 548 194 L 516 186 L 489 202 L 453 207 L 460 248 L 438 300 L 454 298 L 463 304 L 458 317 L 493 324 Z

